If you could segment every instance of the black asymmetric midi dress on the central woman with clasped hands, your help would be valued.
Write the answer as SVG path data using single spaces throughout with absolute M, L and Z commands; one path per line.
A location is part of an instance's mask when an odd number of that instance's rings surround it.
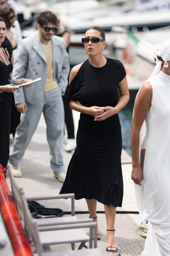
M 118 82 L 126 75 L 123 64 L 106 58 L 106 65 L 91 66 L 86 60 L 69 85 L 69 100 L 86 107 L 115 107 Z M 123 177 L 122 135 L 118 114 L 103 121 L 81 113 L 77 147 L 70 160 L 60 194 L 74 193 L 75 199 L 96 199 L 105 205 L 121 207 Z

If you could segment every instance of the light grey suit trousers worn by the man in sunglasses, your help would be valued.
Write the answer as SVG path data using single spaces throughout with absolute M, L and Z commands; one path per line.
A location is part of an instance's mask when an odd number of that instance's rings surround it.
M 33 86 L 36 86 L 33 85 Z M 21 123 L 16 129 L 13 152 L 10 153 L 9 162 L 18 166 L 24 152 L 33 137 L 43 112 L 47 125 L 47 141 L 50 147 L 50 166 L 54 173 L 65 172 L 63 164 L 63 130 L 64 107 L 61 89 L 44 92 L 43 105 L 36 106 L 27 103 L 27 112 L 22 114 Z

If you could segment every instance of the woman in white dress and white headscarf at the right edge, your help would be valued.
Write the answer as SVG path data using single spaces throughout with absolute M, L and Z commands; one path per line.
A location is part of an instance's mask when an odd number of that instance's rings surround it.
M 170 255 L 170 40 L 155 56 L 157 65 L 137 94 L 131 126 L 131 176 L 139 212 L 149 221 L 142 256 Z

